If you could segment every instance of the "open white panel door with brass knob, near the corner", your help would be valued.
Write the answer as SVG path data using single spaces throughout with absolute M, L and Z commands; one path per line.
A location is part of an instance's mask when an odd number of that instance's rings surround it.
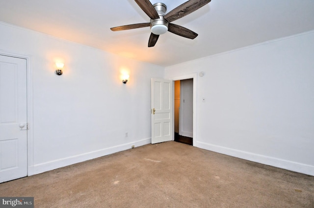
M 152 78 L 152 144 L 171 141 L 172 80 Z

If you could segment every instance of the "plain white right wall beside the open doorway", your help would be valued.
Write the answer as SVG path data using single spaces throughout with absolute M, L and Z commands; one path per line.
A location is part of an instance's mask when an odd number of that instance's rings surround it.
M 165 77 L 201 71 L 195 146 L 314 175 L 314 31 L 166 67 Z

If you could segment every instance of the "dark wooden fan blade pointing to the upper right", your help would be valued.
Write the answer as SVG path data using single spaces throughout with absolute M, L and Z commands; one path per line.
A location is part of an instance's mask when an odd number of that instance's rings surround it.
M 188 0 L 185 3 L 181 4 L 177 8 L 174 8 L 169 13 L 167 13 L 164 18 L 170 23 L 175 20 L 178 20 L 197 9 L 201 8 L 205 4 L 208 4 L 211 0 Z

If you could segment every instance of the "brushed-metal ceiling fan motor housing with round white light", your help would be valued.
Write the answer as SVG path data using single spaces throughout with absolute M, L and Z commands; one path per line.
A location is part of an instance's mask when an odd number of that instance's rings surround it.
M 153 6 L 159 15 L 159 19 L 151 19 L 151 31 L 155 35 L 161 35 L 168 31 L 169 23 L 163 18 L 166 14 L 167 6 L 164 3 L 155 3 Z

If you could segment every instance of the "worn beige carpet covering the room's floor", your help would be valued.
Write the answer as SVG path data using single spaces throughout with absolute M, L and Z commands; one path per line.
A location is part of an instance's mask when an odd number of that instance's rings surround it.
M 177 142 L 0 184 L 35 208 L 314 208 L 314 177 Z

